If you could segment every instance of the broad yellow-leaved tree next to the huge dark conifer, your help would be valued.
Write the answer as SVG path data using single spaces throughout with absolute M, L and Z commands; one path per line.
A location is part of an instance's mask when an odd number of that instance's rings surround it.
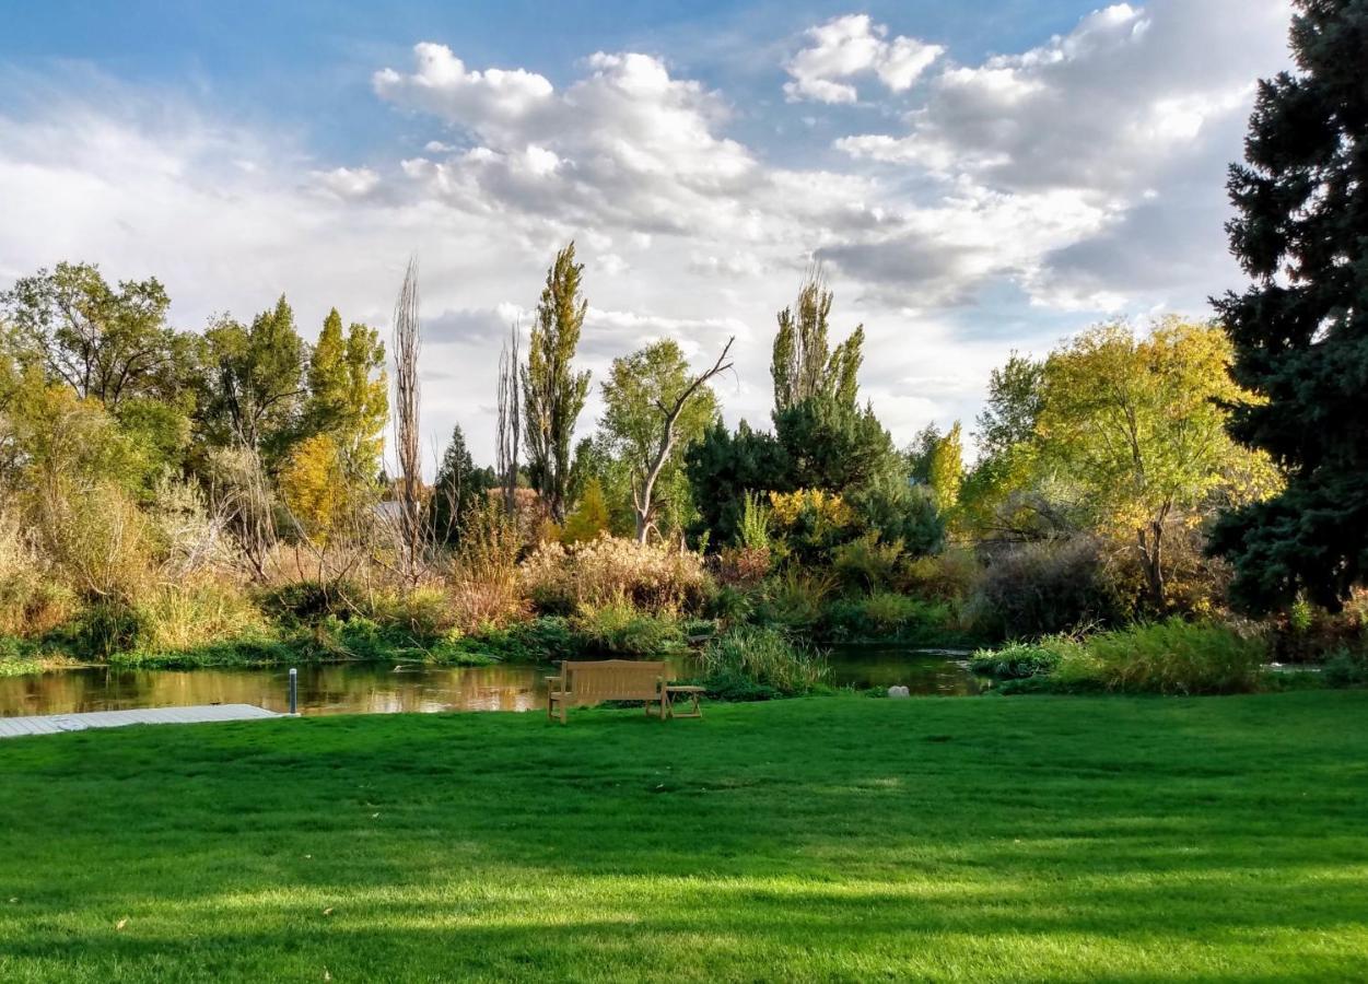
M 1148 338 L 1097 326 L 1045 364 L 1040 463 L 1068 476 L 1096 528 L 1130 539 L 1156 610 L 1167 604 L 1172 524 L 1275 483 L 1267 457 L 1226 434 L 1224 406 L 1248 400 L 1230 359 L 1220 328 L 1168 319 Z

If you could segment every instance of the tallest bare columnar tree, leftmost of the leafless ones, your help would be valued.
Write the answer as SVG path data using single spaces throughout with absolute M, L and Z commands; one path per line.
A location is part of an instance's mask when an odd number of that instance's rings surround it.
M 409 259 L 404 286 L 394 304 L 394 457 L 399 468 L 395 487 L 401 571 L 417 583 L 427 552 L 427 509 L 419 446 L 419 261 Z

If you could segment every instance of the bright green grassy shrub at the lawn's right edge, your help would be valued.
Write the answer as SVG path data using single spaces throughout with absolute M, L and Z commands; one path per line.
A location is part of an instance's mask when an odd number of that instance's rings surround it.
M 1241 694 L 1257 687 L 1267 656 L 1261 639 L 1228 625 L 1170 619 L 1090 636 L 1064 651 L 1055 679 L 1119 692 Z

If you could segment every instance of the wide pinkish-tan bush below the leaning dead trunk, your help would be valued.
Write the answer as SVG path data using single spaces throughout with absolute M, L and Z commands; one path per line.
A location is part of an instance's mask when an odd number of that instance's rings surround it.
M 646 612 L 677 613 L 702 604 L 707 573 L 696 553 L 603 535 L 569 547 L 543 543 L 523 561 L 523 586 L 546 613 L 624 601 Z

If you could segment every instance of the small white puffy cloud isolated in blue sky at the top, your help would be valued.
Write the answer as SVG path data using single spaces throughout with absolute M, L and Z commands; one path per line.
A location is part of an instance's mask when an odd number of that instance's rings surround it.
M 859 92 L 851 78 L 877 75 L 892 92 L 911 88 L 944 48 L 912 37 L 886 41 L 888 27 L 874 23 L 867 14 L 848 14 L 810 27 L 808 45 L 788 60 L 784 68 L 792 81 L 784 83 L 789 101 L 854 103 Z

